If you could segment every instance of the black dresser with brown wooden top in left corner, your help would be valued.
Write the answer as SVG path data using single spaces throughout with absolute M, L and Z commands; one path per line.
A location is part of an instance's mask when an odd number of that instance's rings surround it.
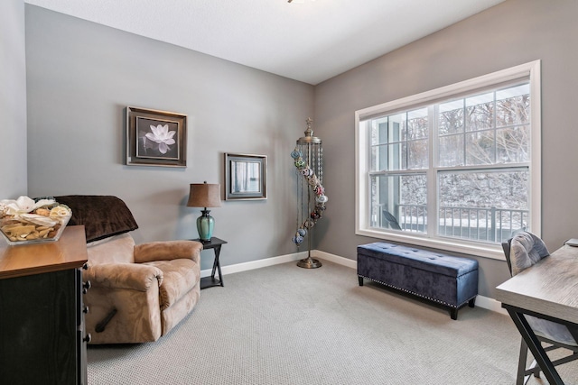
M 0 383 L 87 383 L 87 260 L 84 226 L 51 243 L 9 246 L 0 237 Z

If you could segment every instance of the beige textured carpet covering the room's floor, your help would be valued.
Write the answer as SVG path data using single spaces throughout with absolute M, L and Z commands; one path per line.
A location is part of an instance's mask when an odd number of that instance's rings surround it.
M 294 262 L 224 277 L 169 335 L 90 345 L 89 384 L 514 384 L 520 337 L 508 316 L 439 307 L 355 270 Z M 560 370 L 578 383 L 578 363 Z M 547 381 L 531 379 L 530 384 Z

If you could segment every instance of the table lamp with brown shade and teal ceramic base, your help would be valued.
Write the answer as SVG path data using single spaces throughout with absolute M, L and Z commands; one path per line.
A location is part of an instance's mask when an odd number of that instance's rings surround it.
M 189 192 L 189 207 L 204 207 L 201 210 L 202 215 L 197 218 L 197 231 L 201 241 L 210 241 L 215 227 L 215 220 L 209 215 L 210 210 L 207 207 L 220 207 L 220 185 L 210 185 L 204 183 L 191 183 Z

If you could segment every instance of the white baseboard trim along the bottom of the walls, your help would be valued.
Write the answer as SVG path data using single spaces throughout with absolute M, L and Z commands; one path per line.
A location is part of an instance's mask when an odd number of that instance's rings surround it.
M 312 250 L 311 252 L 313 258 L 319 258 L 324 261 L 337 263 L 339 265 L 346 266 L 350 269 L 358 268 L 358 261 L 350 260 L 349 258 L 344 258 L 339 255 L 331 254 L 329 252 L 320 252 L 318 250 Z M 285 262 L 299 261 L 302 260 L 303 258 L 307 258 L 307 252 L 295 252 L 293 254 L 285 254 L 280 255 L 278 257 L 265 258 L 263 260 L 237 263 L 234 265 L 223 266 L 221 270 L 223 272 L 223 275 L 233 274 L 240 271 L 261 269 L 267 266 L 274 266 Z M 210 273 L 211 273 L 210 269 L 201 270 L 200 277 L 209 277 Z M 508 316 L 508 312 L 501 306 L 501 302 L 497 301 L 494 298 L 479 295 L 478 297 L 476 297 L 476 306 Z

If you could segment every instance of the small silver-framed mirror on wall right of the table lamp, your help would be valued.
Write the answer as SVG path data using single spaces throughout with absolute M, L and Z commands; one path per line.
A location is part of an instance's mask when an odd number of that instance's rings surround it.
M 225 200 L 266 198 L 266 155 L 225 153 Z

